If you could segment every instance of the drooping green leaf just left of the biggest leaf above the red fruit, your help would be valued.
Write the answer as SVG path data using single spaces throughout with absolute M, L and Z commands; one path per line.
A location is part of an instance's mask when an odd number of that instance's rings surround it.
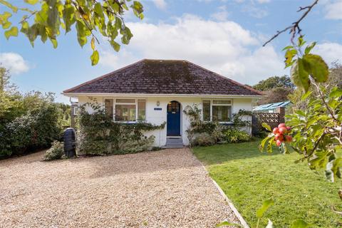
M 291 67 L 291 78 L 294 84 L 305 92 L 309 90 L 310 79 L 309 73 L 304 69 L 304 63 L 301 58 L 298 58 Z

